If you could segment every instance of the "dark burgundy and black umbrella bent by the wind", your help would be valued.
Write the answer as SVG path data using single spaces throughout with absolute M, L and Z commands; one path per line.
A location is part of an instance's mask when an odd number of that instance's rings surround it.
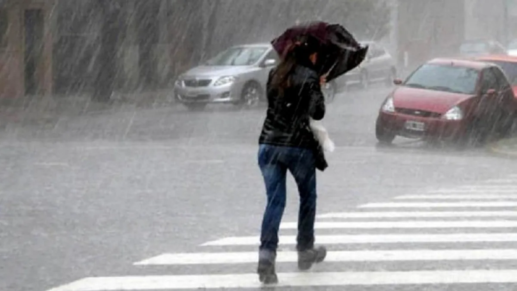
M 284 57 L 301 36 L 312 36 L 321 42 L 316 67 L 320 75 L 327 74 L 327 81 L 359 66 L 368 52 L 368 46 L 362 47 L 342 25 L 321 21 L 288 28 L 271 44 Z

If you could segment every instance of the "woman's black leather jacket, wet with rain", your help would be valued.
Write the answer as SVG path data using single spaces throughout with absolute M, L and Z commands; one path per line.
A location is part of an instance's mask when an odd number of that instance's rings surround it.
M 318 144 L 309 127 L 310 117 L 321 120 L 325 116 L 325 98 L 320 76 L 310 65 L 293 68 L 291 86 L 278 96 L 267 82 L 268 108 L 259 144 L 315 149 Z

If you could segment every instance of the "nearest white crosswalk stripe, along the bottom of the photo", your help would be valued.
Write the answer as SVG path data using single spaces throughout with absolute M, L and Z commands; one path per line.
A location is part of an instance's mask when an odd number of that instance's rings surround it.
M 517 270 L 281 273 L 280 287 L 517 283 Z M 85 278 L 49 291 L 260 288 L 255 274 L 160 275 Z

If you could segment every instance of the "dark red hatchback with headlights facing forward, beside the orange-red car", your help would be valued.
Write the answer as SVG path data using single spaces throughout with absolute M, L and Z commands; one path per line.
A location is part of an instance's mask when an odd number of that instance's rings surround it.
M 438 58 L 417 68 L 384 100 L 375 134 L 463 143 L 508 134 L 515 109 L 512 87 L 494 64 Z

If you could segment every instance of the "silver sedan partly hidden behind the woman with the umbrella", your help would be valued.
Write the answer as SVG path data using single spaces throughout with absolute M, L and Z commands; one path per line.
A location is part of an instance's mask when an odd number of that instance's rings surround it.
M 269 43 L 231 47 L 181 74 L 174 85 L 175 98 L 191 110 L 204 109 L 209 103 L 256 106 L 265 101 L 267 77 L 278 61 Z M 335 93 L 333 83 L 325 86 L 328 99 Z

